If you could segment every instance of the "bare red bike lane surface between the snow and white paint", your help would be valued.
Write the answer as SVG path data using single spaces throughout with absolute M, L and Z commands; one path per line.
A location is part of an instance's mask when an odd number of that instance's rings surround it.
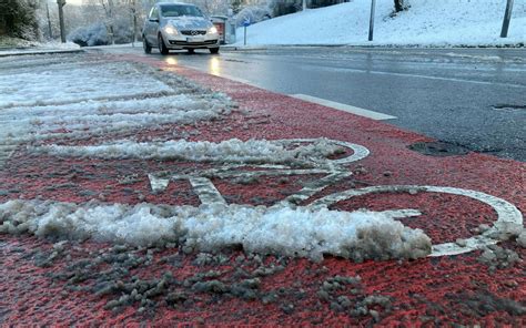
M 423 155 L 408 146 L 431 139 L 383 122 L 169 62 L 133 55 L 124 59 L 225 93 L 239 110 L 219 121 L 139 130 L 135 136 L 151 139 L 194 130 L 199 134 L 191 136 L 192 141 L 345 141 L 366 147 L 368 156 L 348 164 L 351 177 L 330 185 L 310 202 L 353 188 L 441 186 L 485 193 L 525 212 L 524 163 L 476 153 Z M 0 174 L 2 189 L 8 191 L 0 194 L 0 201 L 81 203 L 98 198 L 199 205 L 185 181 L 171 183 L 161 193 L 151 191 L 149 173 L 178 166 L 176 161 L 60 158 L 19 147 Z M 267 176 L 250 184 L 215 180 L 214 185 L 227 202 L 270 206 L 320 177 Z M 446 192 L 367 193 L 334 207 L 348 212 L 417 208 L 422 215 L 403 218 L 403 223 L 423 229 L 434 245 L 462 246 L 482 233 L 481 225 L 492 226 L 497 219 L 490 205 Z M 176 246 L 122 250 L 93 240 L 63 246 L 24 234 L 0 235 L 0 325 L 526 324 L 526 249 L 514 238 L 459 255 L 363 263 L 331 256 L 315 263 L 243 255 L 240 249 L 203 256 Z

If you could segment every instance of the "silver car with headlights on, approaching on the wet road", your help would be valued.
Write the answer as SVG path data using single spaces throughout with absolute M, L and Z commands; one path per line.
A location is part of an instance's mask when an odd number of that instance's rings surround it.
M 209 49 L 218 53 L 220 37 L 210 19 L 195 6 L 180 2 L 159 2 L 153 6 L 142 29 L 145 53 L 158 47 L 162 54 L 170 50 Z

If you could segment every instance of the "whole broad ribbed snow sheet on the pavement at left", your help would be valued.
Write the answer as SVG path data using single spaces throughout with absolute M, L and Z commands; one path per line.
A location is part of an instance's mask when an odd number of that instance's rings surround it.
M 0 144 L 195 123 L 232 105 L 173 74 L 125 62 L 38 55 L 0 59 Z

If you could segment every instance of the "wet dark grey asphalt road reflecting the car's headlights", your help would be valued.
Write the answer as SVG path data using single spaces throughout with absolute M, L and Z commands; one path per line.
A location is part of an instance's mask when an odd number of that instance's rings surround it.
M 336 47 L 151 55 L 279 93 L 390 114 L 396 116 L 385 121 L 390 124 L 526 162 L 524 49 Z

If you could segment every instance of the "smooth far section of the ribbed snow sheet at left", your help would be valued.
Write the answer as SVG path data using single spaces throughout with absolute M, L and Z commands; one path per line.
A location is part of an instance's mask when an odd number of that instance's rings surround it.
M 132 64 L 97 63 L 39 68 L 0 75 L 0 107 L 55 104 L 170 92 L 172 89 Z

